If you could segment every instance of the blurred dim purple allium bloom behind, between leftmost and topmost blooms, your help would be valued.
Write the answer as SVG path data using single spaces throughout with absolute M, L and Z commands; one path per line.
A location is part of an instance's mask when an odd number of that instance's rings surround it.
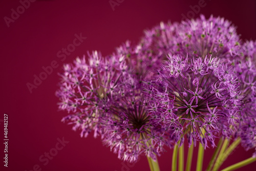
M 168 45 L 172 44 L 176 35 L 178 24 L 164 24 L 154 27 L 152 30 L 145 30 L 145 36 L 138 45 L 131 45 L 126 41 L 116 49 L 116 54 L 125 56 L 128 66 L 132 66 L 133 73 L 140 80 L 151 79 L 157 74 L 161 63 L 170 51 Z

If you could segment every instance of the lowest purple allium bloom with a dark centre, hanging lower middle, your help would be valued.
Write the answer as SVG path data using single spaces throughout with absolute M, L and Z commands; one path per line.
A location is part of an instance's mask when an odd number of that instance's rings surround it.
M 141 91 L 125 86 L 131 94 L 125 95 L 110 106 L 104 124 L 103 142 L 118 153 L 118 158 L 135 162 L 140 154 L 156 159 L 169 144 L 170 135 L 161 124 L 148 115 L 146 99 Z M 105 122 L 105 123 L 104 123 Z

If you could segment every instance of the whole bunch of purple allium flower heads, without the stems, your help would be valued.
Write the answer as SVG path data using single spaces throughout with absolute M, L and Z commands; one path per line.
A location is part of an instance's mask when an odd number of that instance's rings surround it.
M 256 147 L 256 43 L 229 21 L 203 15 L 146 30 L 109 56 L 94 51 L 63 67 L 62 121 L 101 137 L 118 158 L 156 160 L 164 147 L 241 138 Z M 254 154 L 255 155 L 255 154 Z

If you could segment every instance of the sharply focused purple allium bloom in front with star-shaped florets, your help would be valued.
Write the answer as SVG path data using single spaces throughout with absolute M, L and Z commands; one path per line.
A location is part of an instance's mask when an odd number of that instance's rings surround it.
M 193 140 L 214 147 L 215 138 L 230 137 L 230 126 L 241 118 L 243 95 L 237 78 L 233 67 L 218 58 L 169 55 L 159 78 L 144 81 L 151 100 L 147 109 L 176 142 L 187 135 L 189 146 Z

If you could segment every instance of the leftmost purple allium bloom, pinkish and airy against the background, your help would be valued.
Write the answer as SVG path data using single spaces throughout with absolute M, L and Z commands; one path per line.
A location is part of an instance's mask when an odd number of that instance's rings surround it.
M 108 111 L 109 101 L 115 96 L 122 78 L 125 78 L 127 66 L 124 61 L 114 57 L 104 59 L 94 51 L 89 55 L 87 63 L 85 56 L 74 61 L 74 65 L 65 65 L 60 75 L 60 88 L 56 95 L 60 98 L 59 108 L 71 115 L 62 120 L 70 120 L 73 130 L 81 129 L 81 136 L 88 136 L 91 130 L 98 131 L 99 119 Z

